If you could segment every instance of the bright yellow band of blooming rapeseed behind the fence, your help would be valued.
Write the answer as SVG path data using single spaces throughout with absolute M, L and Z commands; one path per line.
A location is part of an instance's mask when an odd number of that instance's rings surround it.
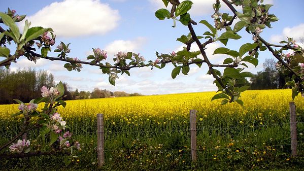
M 124 119 L 153 117 L 176 118 L 188 117 L 190 109 L 196 109 L 198 115 L 206 117 L 210 113 L 221 115 L 245 115 L 265 112 L 283 116 L 288 114 L 291 90 L 248 90 L 242 93 L 244 106 L 236 103 L 220 105 L 220 100 L 211 101 L 215 92 L 183 93 L 169 95 L 151 95 L 136 97 L 100 98 L 67 100 L 65 108 L 59 108 L 65 119 L 75 117 L 95 118 L 103 113 L 105 119 L 120 117 Z M 297 108 L 302 108 L 304 99 L 295 99 Z M 18 111 L 18 105 L 1 105 L 0 118 L 10 119 L 10 114 Z M 130 120 L 131 121 L 131 120 Z

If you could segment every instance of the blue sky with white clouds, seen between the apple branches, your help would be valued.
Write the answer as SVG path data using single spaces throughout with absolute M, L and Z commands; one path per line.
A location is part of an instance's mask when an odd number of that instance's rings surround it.
M 212 4 L 215 0 L 192 0 L 193 7 L 190 11 L 191 18 L 199 22 L 202 19 L 212 23 Z M 273 28 L 266 28 L 261 36 L 268 42 L 278 43 L 286 37 L 298 40 L 304 36 L 304 1 L 302 0 L 267 0 L 265 4 L 274 4 L 269 11 L 280 20 L 273 23 Z M 113 55 L 118 51 L 132 51 L 140 53 L 146 61 L 155 60 L 155 52 L 170 53 L 181 50 L 183 44 L 176 41 L 181 35 L 187 35 L 187 27 L 177 23 L 173 28 L 172 20 L 158 20 L 154 13 L 159 8 L 164 8 L 161 0 L 11 0 L 2 1 L 0 10 L 6 12 L 7 8 L 15 9 L 19 15 L 27 15 L 26 19 L 31 26 L 53 28 L 56 44 L 60 41 L 71 43 L 70 57 L 85 60 L 92 54 L 92 48 L 104 49 L 108 52 L 108 62 L 113 62 Z M 223 12 L 227 10 L 222 4 Z M 231 12 L 230 12 L 231 13 Z M 20 23 L 20 28 L 22 23 Z M 194 26 L 197 35 L 202 35 L 208 30 L 200 24 Z M 240 31 L 242 41 L 228 42 L 228 48 L 239 50 L 240 45 L 252 41 L 252 36 L 246 31 Z M 226 56 L 213 55 L 216 48 L 223 47 L 216 42 L 207 48 L 207 54 L 212 62 L 221 63 Z M 192 50 L 197 49 L 193 46 Z M 57 56 L 50 53 L 50 56 Z M 112 58 L 111 58 L 112 56 Z M 249 65 L 247 71 L 256 73 L 262 70 L 265 58 L 271 58 L 271 53 L 261 53 L 259 65 L 255 68 Z M 63 67 L 64 62 L 52 62 L 39 59 L 37 63 L 26 58 L 19 58 L 16 64 L 11 65 L 12 70 L 23 67 L 35 67 L 52 73 L 56 82 L 66 82 L 71 90 L 92 91 L 95 87 L 110 91 L 125 91 L 150 94 L 171 94 L 183 92 L 202 92 L 217 90 L 213 79 L 206 75 L 207 65 L 201 68 L 190 66 L 187 76 L 179 75 L 171 78 L 173 66 L 167 65 L 164 69 L 151 70 L 150 67 L 133 69 L 131 77 L 119 76 L 116 86 L 108 82 L 108 75 L 103 75 L 97 67 L 83 66 L 81 72 L 68 72 Z

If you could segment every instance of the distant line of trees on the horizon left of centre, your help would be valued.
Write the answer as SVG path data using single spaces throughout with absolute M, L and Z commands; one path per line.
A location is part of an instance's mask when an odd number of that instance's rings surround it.
M 7 70 L 0 67 L 0 104 L 16 103 L 13 99 L 19 99 L 23 102 L 29 102 L 31 99 L 41 95 L 42 86 L 54 87 L 54 76 L 47 71 L 35 71 L 33 69 L 18 69 L 17 71 Z M 126 93 L 123 91 L 108 91 L 94 88 L 90 91 L 71 91 L 67 83 L 63 83 L 65 92 L 64 100 L 88 99 L 88 98 L 108 98 L 139 96 L 139 93 Z

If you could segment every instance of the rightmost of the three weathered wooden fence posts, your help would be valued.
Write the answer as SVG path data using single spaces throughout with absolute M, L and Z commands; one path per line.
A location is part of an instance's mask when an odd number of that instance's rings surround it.
M 291 137 L 291 155 L 297 156 L 297 141 L 296 141 L 296 114 L 294 101 L 289 102 L 289 113 L 290 113 L 290 137 Z

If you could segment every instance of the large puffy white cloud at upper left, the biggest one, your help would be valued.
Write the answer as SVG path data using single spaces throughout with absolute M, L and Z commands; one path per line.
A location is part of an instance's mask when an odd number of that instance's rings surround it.
M 65 0 L 52 3 L 26 19 L 31 26 L 53 28 L 57 36 L 80 37 L 104 35 L 118 25 L 120 16 L 99 0 Z

